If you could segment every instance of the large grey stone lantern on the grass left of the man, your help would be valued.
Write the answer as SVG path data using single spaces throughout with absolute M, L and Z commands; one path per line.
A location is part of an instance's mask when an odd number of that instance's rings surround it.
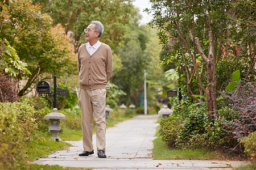
M 66 116 L 62 113 L 58 113 L 57 111 L 57 108 L 53 108 L 53 112 L 47 114 L 44 118 L 48 118 L 50 120 L 49 130 L 51 130 L 52 133 L 50 140 L 56 139 L 56 142 L 59 142 L 59 140 L 61 140 L 58 137 L 58 131 L 61 129 L 60 120 L 64 119 Z

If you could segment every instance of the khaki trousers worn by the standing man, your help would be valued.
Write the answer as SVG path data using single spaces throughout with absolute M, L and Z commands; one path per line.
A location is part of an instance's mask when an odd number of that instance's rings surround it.
M 79 104 L 82 118 L 82 144 L 84 151 L 93 150 L 93 113 L 96 122 L 98 150 L 106 151 L 106 89 L 84 90 L 79 88 Z

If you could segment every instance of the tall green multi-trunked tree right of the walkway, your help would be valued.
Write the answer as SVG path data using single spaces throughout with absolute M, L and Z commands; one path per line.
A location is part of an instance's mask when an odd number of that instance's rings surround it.
M 243 78 L 253 74 L 255 2 L 151 3 L 149 25 L 159 29 L 159 40 L 168 49 L 162 64 L 175 62 L 185 92 L 198 102 L 203 101 L 198 95 L 206 95 L 209 111 L 217 113 L 216 90 L 225 88 L 233 71 L 240 69 Z

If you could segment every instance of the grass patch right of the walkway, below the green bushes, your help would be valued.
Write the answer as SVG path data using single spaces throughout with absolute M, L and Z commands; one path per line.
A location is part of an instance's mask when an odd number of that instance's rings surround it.
M 184 148 L 184 149 L 170 149 L 166 146 L 160 137 L 156 138 L 154 141 L 154 148 L 153 148 L 153 158 L 154 159 L 216 159 L 216 155 L 213 151 L 202 149 L 191 149 L 191 148 Z

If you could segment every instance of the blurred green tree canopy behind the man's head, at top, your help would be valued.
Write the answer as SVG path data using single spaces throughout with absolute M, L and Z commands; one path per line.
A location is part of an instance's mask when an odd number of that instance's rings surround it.
M 33 0 L 42 6 L 43 12 L 48 12 L 53 24 L 61 23 L 65 31 L 72 31 L 76 51 L 85 42 L 84 29 L 92 20 L 99 20 L 105 27 L 101 41 L 115 49 L 123 39 L 126 25 L 137 17 L 137 10 L 132 5 L 133 0 Z

